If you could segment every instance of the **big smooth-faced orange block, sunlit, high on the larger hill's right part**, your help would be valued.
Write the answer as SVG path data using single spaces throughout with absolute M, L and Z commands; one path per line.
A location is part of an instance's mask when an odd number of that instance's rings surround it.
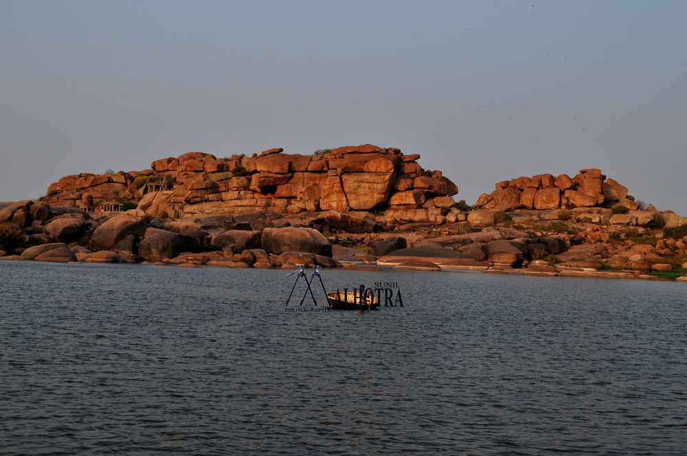
M 396 176 L 388 172 L 353 172 L 344 174 L 341 180 L 350 208 L 365 210 L 387 202 Z

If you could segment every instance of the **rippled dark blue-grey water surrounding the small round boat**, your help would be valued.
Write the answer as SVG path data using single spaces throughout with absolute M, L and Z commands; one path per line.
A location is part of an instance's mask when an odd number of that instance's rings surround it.
M 0 454 L 687 451 L 685 284 L 287 272 L 0 262 Z

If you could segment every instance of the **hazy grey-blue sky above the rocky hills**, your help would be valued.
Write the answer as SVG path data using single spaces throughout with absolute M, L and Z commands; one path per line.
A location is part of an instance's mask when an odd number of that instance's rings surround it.
M 189 151 L 602 172 L 687 216 L 687 2 L 0 1 L 0 201 Z

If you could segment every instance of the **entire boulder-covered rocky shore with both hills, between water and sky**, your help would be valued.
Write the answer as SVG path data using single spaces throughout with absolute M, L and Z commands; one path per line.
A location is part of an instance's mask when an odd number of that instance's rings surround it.
M 687 218 L 598 169 L 501 181 L 471 207 L 396 148 L 282 152 L 66 176 L 0 203 L 0 259 L 687 280 Z

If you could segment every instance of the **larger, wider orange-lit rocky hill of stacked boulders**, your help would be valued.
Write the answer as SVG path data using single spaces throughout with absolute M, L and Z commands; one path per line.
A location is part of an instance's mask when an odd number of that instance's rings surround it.
M 269 220 L 383 207 L 392 220 L 398 214 L 398 221 L 436 222 L 458 193 L 442 172 L 421 168 L 420 155 L 370 144 L 325 152 L 289 155 L 276 148 L 225 159 L 189 152 L 154 161 L 148 170 L 65 176 L 50 185 L 45 203 L 90 212 L 133 202 L 161 218 L 262 214 Z

